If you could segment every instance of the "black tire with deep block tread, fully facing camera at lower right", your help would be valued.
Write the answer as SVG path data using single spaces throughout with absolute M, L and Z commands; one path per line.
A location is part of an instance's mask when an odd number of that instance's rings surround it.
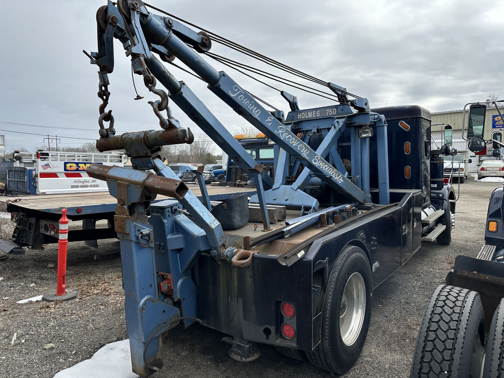
M 438 286 L 418 331 L 410 378 L 479 378 L 484 335 L 479 294 Z

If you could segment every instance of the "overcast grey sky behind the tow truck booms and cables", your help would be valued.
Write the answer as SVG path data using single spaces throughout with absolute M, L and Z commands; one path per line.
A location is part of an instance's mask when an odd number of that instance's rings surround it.
M 344 86 L 367 97 L 371 107 L 418 104 L 434 112 L 461 109 L 467 102 L 484 101 L 490 93 L 504 97 L 501 1 L 150 2 L 291 67 Z M 8 17 L 0 23 L 0 129 L 7 130 L 0 134 L 7 136 L 7 150 L 31 151 L 44 144 L 42 136 L 12 132 L 49 133 L 61 137 L 61 145 L 72 146 L 88 140 L 64 137 L 98 138 L 98 67 L 89 64 L 82 49 L 97 50 L 95 14 L 105 4 L 104 0 L 51 1 L 50 6 L 48 2 L 10 3 Z M 116 130 L 159 128 L 147 103 L 156 96 L 136 75 L 137 88 L 145 99 L 133 100 L 130 59 L 118 41 L 114 51 L 107 109 L 113 110 Z M 259 68 L 269 67 L 217 43 L 212 51 Z M 246 90 L 288 110 L 277 91 L 207 60 Z M 167 68 L 203 99 L 228 130 L 246 123 L 205 83 L 172 66 Z M 301 108 L 331 104 L 268 82 L 296 95 Z M 173 102 L 170 105 L 180 123 L 203 138 L 202 131 Z

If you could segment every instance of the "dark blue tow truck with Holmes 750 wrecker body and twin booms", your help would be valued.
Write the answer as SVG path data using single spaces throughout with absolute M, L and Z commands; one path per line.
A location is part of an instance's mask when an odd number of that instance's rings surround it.
M 142 377 L 159 371 L 162 334 L 178 324 L 200 323 L 229 335 L 223 341 L 238 361 L 258 358 L 259 345 L 268 344 L 344 373 L 364 345 L 373 288 L 408 261 L 422 241 L 451 241 L 454 190 L 443 184 L 443 170 L 433 167 L 451 151 L 431 150 L 426 109 L 370 109 L 366 98 L 320 79 L 316 85 L 334 99 L 330 105 L 302 109 L 295 96 L 282 91 L 290 108 L 284 113 L 205 60 L 230 64 L 210 52 L 212 42 L 222 37 L 196 32 L 149 7 L 141 0 L 123 0 L 98 9 L 98 52 L 85 52 L 99 67 L 103 101 L 96 146 L 124 149 L 133 169 L 92 164 L 86 172 L 105 180 L 115 201 L 108 201 L 107 211 L 95 203 L 79 208 L 72 203 L 67 213 L 70 219 L 85 219 L 95 210 L 93 218 L 109 219 L 107 235 L 114 232 L 120 241 L 133 371 Z M 115 135 L 113 116 L 104 110 L 114 38 L 131 58 L 134 73 L 159 96 L 149 103 L 158 130 Z M 175 58 L 275 143 L 271 174 L 161 62 Z M 207 188 L 201 179 L 199 191 L 193 191 L 163 163 L 161 146 L 194 141 L 171 113 L 169 100 L 253 177 L 254 191 Z M 194 173 L 201 175 L 203 167 Z M 27 200 L 7 208 L 24 212 L 16 219 L 17 229 L 26 232 L 27 219 L 34 218 L 30 214 L 55 214 L 67 204 L 52 206 L 30 207 Z M 272 207 L 285 212 L 282 221 L 271 221 Z M 258 208 L 261 221 L 251 222 Z M 5 242 L 29 245 L 26 238 Z

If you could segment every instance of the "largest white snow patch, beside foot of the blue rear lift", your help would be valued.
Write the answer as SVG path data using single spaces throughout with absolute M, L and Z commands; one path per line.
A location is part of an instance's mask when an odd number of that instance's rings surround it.
M 88 360 L 57 372 L 53 378 L 138 378 L 131 370 L 130 340 L 107 344 Z

